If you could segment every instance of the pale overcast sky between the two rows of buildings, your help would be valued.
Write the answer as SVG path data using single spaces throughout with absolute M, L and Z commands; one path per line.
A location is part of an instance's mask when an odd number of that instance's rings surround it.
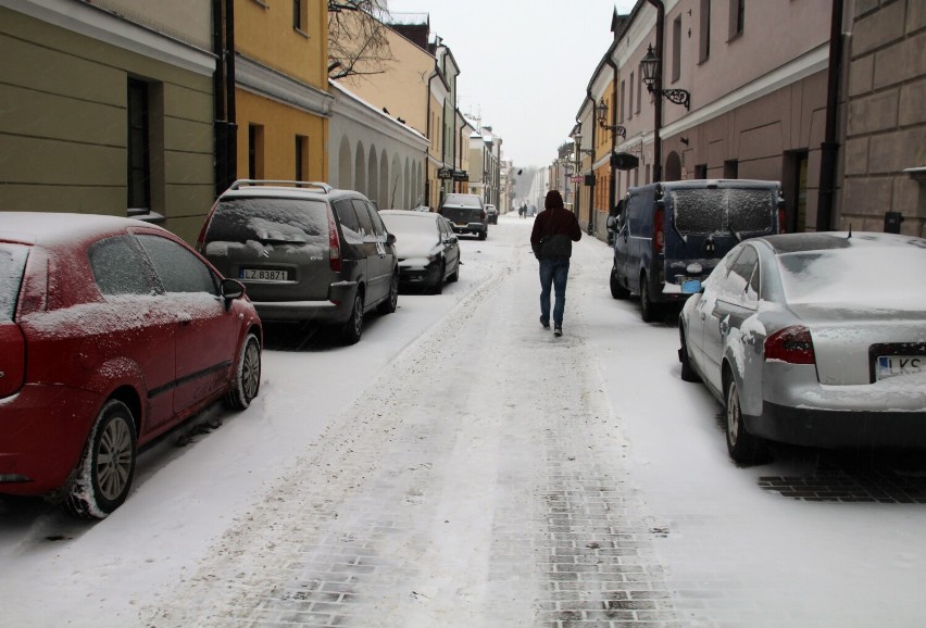
M 635 0 L 388 0 L 429 13 L 460 65 L 460 111 L 480 116 L 516 166 L 548 165 L 568 139 L 591 73 L 612 41 L 614 9 Z

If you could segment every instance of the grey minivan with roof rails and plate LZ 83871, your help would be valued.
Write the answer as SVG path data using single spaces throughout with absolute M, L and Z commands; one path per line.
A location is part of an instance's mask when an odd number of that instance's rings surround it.
M 360 192 L 241 179 L 216 200 L 198 248 L 248 287 L 264 322 L 329 325 L 353 344 L 368 312 L 396 311 L 395 242 Z

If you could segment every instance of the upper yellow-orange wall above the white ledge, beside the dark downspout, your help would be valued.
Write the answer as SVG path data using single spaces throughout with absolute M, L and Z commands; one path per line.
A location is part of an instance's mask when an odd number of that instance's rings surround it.
M 304 30 L 290 0 L 235 0 L 235 48 L 241 54 L 323 91 L 328 90 L 328 9 L 303 0 Z

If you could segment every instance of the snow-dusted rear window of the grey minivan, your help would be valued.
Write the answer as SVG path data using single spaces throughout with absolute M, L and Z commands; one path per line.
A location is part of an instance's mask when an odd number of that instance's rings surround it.
M 264 244 L 328 246 L 324 201 L 305 199 L 230 199 L 215 209 L 207 242 L 258 241 Z

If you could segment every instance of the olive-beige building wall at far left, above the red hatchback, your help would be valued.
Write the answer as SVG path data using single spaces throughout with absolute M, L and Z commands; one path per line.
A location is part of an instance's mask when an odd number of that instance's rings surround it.
M 133 214 L 192 241 L 214 198 L 212 56 L 84 2 L 36 9 L 0 1 L 0 102 L 15 104 L 0 115 L 0 208 L 127 215 L 127 92 L 138 79 L 150 198 Z M 209 38 L 197 23 L 187 40 Z

